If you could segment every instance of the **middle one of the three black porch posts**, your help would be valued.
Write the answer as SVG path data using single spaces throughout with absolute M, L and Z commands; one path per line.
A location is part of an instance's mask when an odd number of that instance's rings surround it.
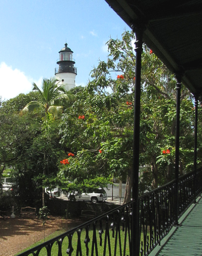
M 180 96 L 182 75 L 175 75 L 176 83 L 176 138 L 175 138 L 175 224 L 178 224 L 179 216 L 179 153 L 180 153 Z

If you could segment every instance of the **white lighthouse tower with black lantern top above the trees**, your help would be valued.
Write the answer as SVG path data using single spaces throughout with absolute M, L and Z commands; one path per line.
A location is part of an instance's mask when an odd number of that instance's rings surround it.
M 59 51 L 59 59 L 57 60 L 59 67 L 55 68 L 55 76 L 60 80 L 60 83 L 65 85 L 66 90 L 75 87 L 75 77 L 77 75 L 72 53 L 73 51 L 67 47 L 67 43 L 64 44 L 64 47 Z

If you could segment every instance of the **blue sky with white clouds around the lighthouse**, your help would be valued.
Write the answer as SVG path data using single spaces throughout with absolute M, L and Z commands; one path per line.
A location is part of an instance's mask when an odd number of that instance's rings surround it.
M 106 42 L 130 27 L 104 0 L 0 0 L 0 96 L 27 94 L 54 76 L 59 51 L 74 52 L 76 86 L 85 86 Z

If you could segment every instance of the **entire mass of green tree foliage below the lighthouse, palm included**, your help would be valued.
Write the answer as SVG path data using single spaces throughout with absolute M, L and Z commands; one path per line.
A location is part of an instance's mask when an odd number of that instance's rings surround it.
M 69 192 L 84 191 L 105 187 L 116 179 L 126 182 L 125 202 L 131 199 L 135 84 L 131 42 L 134 39 L 130 32 L 124 32 L 122 40 L 111 38 L 107 42 L 108 60 L 100 60 L 93 68 L 86 87 L 75 87 L 67 94 L 57 80 L 44 79 L 42 89 L 34 84 L 30 94 L 2 103 L 1 172 L 12 166 L 24 194 L 29 190 L 23 187 L 25 180 L 37 188 L 33 189 L 35 195 L 41 197 L 41 188 L 45 187 L 58 185 Z M 174 177 L 175 84 L 174 75 L 144 45 L 141 193 Z M 193 168 L 194 112 L 193 97 L 182 87 L 181 174 Z M 61 118 L 56 118 L 59 115 Z M 202 152 L 200 139 L 198 147 L 199 153 Z

